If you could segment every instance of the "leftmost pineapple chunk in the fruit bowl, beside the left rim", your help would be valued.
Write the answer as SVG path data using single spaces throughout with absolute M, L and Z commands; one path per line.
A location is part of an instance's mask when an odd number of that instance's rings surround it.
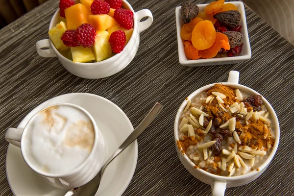
M 62 40 L 60 39 L 62 34 L 67 30 L 66 23 L 60 22 L 53 28 L 51 28 L 48 32 L 51 41 L 53 42 L 56 49 L 60 50 L 67 50 L 70 47 L 67 47 L 63 44 Z

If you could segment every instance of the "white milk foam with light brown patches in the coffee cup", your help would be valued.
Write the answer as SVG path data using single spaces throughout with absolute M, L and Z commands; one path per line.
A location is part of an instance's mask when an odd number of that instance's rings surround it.
M 30 123 L 25 153 L 29 162 L 43 172 L 70 172 L 88 157 L 94 139 L 94 126 L 85 113 L 71 106 L 53 106 Z

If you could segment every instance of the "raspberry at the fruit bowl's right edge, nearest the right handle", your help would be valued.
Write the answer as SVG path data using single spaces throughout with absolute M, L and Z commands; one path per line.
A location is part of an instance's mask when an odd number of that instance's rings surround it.
M 131 29 L 133 27 L 133 16 L 134 13 L 131 10 L 119 8 L 114 11 L 113 18 L 126 29 Z

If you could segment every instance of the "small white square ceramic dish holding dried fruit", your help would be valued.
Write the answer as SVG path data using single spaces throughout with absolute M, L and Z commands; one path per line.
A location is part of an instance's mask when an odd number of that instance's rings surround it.
M 177 41 L 178 41 L 178 51 L 179 51 L 179 62 L 181 65 L 189 67 L 198 67 L 198 66 L 207 66 L 207 65 L 224 65 L 224 64 L 233 64 L 239 63 L 251 58 L 251 49 L 247 31 L 246 24 L 246 15 L 244 4 L 241 1 L 231 1 L 227 3 L 232 3 L 238 7 L 239 12 L 241 13 L 240 25 L 242 25 L 241 33 L 243 35 L 243 47 L 242 51 L 238 56 L 232 57 L 221 57 L 221 58 L 210 58 L 210 59 L 197 59 L 190 60 L 186 57 L 184 51 L 184 40 L 181 38 L 181 28 L 184 25 L 181 17 L 181 6 L 175 8 L 175 21 L 176 21 L 176 32 L 177 32 Z M 208 4 L 199 4 L 199 12 L 204 11 L 204 8 Z

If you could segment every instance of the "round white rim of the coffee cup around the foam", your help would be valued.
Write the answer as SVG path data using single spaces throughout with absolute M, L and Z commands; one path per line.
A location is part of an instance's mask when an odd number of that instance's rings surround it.
M 74 168 L 71 172 L 67 172 L 67 173 L 57 173 L 57 174 L 50 174 L 50 173 L 46 173 L 46 172 L 43 172 L 43 171 L 40 171 L 39 169 L 37 169 L 37 168 L 35 168 L 34 166 L 33 166 L 33 164 L 29 161 L 29 159 L 28 159 L 28 157 L 27 157 L 27 154 L 25 153 L 25 147 L 24 147 L 24 145 L 25 145 L 25 142 L 21 142 L 21 152 L 22 152 L 22 155 L 23 155 L 23 158 L 24 158 L 24 160 L 25 160 L 25 163 L 26 163 L 26 165 L 28 165 L 28 167 L 31 169 L 31 170 L 33 170 L 34 172 L 36 172 L 36 173 L 38 173 L 38 174 L 40 174 L 40 175 L 43 175 L 43 176 L 46 176 L 46 177 L 52 177 L 52 178 L 57 178 L 57 177 L 64 177 L 64 176 L 68 176 L 68 175 L 73 175 L 74 173 L 76 173 L 76 172 L 78 172 L 78 171 L 80 171 L 84 166 L 85 166 L 85 164 L 86 164 L 86 161 L 89 159 L 89 157 L 95 152 L 95 150 L 97 149 L 97 136 L 98 136 L 98 131 L 99 131 L 99 129 L 98 129 L 98 126 L 97 126 L 97 124 L 96 124 L 96 122 L 95 122 L 95 120 L 93 119 L 93 117 L 91 116 L 91 114 L 87 111 L 87 110 L 85 110 L 84 108 L 82 108 L 82 107 L 80 107 L 80 106 L 78 106 L 78 105 L 75 105 L 75 104 L 72 104 L 72 103 L 57 103 L 57 104 L 52 104 L 52 105 L 49 105 L 49 106 L 47 106 L 47 107 L 45 107 L 45 108 L 43 108 L 43 109 L 41 109 L 40 111 L 38 111 L 36 114 L 34 114 L 34 116 L 32 116 L 32 118 L 30 118 L 30 120 L 26 123 L 26 125 L 25 125 L 25 128 L 24 128 L 24 130 L 23 130 L 23 134 L 22 134 L 22 139 L 21 139 L 21 141 L 23 140 L 23 138 L 26 136 L 26 134 L 27 134 L 27 130 L 28 130 L 28 126 L 27 125 L 29 125 L 35 118 L 36 118 L 36 116 L 38 116 L 38 114 L 40 113 L 40 112 L 42 112 L 43 110 L 46 110 L 46 109 L 48 109 L 49 107 L 53 107 L 53 106 L 71 106 L 71 107 L 73 107 L 73 108 L 76 108 L 76 109 L 78 109 L 78 110 L 80 110 L 80 111 L 82 111 L 84 114 L 86 114 L 87 115 L 87 117 L 91 120 L 91 122 L 92 122 L 92 124 L 93 124 L 93 126 L 94 126 L 94 130 L 95 130 L 95 139 L 94 139 L 94 144 L 96 144 L 96 145 L 94 145 L 93 147 L 92 147 L 92 149 L 91 149 L 91 152 L 90 152 L 90 154 L 88 155 L 88 157 L 84 160 L 84 162 L 81 164 L 81 165 L 79 165 L 78 167 L 76 167 L 76 168 Z

